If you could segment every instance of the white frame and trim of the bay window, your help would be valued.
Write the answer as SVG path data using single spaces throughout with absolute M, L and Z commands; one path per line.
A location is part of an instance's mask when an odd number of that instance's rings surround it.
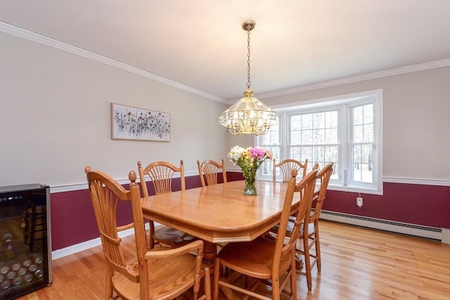
M 354 107 L 373 103 L 373 183 L 353 181 L 350 174 L 350 159 L 352 157 L 353 142 L 353 115 Z M 383 90 L 364 91 L 351 93 L 330 98 L 302 101 L 298 103 L 287 103 L 271 107 L 277 112 L 278 117 L 278 137 L 279 144 L 271 144 L 273 147 L 280 147 L 280 157 L 278 160 L 289 158 L 290 148 L 290 116 L 308 114 L 313 112 L 326 112 L 338 110 L 338 179 L 330 180 L 328 188 L 330 190 L 340 190 L 345 192 L 366 193 L 383 195 Z M 262 136 L 255 136 L 255 145 L 262 145 Z M 310 159 L 311 160 L 311 159 Z M 272 162 L 270 162 L 272 163 Z M 308 164 L 308 171 L 312 164 Z M 271 168 L 271 167 L 270 167 Z M 344 185 L 344 169 L 347 169 L 347 185 Z M 257 175 L 261 180 L 272 180 L 271 174 Z

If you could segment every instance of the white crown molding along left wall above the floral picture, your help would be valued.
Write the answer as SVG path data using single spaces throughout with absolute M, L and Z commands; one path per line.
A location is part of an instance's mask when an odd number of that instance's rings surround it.
M 128 71 L 142 77 L 146 77 L 148 79 L 153 79 L 155 81 L 161 82 L 162 84 L 167 84 L 169 86 L 174 86 L 177 89 L 181 89 L 184 91 L 188 91 L 189 93 L 194 93 L 195 95 L 202 96 L 208 98 L 210 100 L 219 101 L 222 103 L 226 103 L 226 100 L 210 93 L 205 93 L 204 91 L 199 91 L 198 89 L 193 89 L 191 86 L 186 86 L 184 84 L 180 84 L 177 81 L 167 79 L 165 77 L 161 77 L 157 74 L 153 74 L 151 72 L 144 71 L 139 69 L 138 67 L 133 67 L 131 65 L 127 65 L 125 63 L 121 63 L 120 61 L 113 60 L 111 58 L 107 58 L 105 56 L 101 56 L 99 54 L 93 53 L 91 51 L 86 51 L 82 48 L 78 48 L 76 46 L 63 43 L 62 41 L 57 41 L 56 39 L 51 39 L 49 37 L 45 37 L 44 35 L 37 34 L 35 32 L 30 32 L 28 30 L 24 30 L 20 27 L 15 27 L 13 25 L 7 24 L 5 22 L 0 22 L 0 32 L 4 32 L 6 34 L 11 34 L 15 37 L 20 37 L 22 39 L 27 39 L 29 41 L 34 41 L 38 44 L 42 44 L 45 46 L 49 46 L 52 48 L 56 48 L 58 50 L 66 51 L 68 53 L 75 54 L 77 56 L 82 56 L 84 58 L 88 58 L 90 60 L 95 60 L 99 63 L 104 63 L 106 65 L 110 65 L 113 67 L 117 67 L 121 70 Z

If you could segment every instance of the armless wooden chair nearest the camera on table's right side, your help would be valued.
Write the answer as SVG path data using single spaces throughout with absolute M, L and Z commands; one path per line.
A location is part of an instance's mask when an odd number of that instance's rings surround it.
M 232 291 L 240 292 L 245 296 L 236 299 L 248 299 L 249 296 L 257 299 L 280 299 L 281 293 L 288 294 L 290 299 L 297 299 L 296 271 L 295 271 L 295 244 L 300 235 L 300 225 L 308 222 L 311 201 L 314 195 L 317 171 L 313 170 L 297 185 L 295 177 L 297 170 L 292 171 L 283 202 L 283 211 L 276 240 L 257 237 L 252 242 L 232 242 L 227 244 L 215 261 L 214 266 L 214 299 L 219 299 L 219 286 Z M 296 214 L 295 227 L 292 235 L 285 243 L 285 232 L 292 207 L 295 192 L 302 191 L 304 195 L 300 201 Z M 232 270 L 228 278 L 220 278 L 220 267 Z M 248 287 L 233 285 L 240 275 L 253 278 Z M 246 280 L 247 281 L 247 280 Z M 271 296 L 264 296 L 255 292 L 259 282 L 271 286 Z M 290 292 L 285 286 L 290 282 Z

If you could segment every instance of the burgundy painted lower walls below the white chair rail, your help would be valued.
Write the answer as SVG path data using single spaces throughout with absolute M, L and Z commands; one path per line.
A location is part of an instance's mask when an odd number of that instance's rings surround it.
M 228 181 L 243 180 L 240 172 L 227 172 L 226 176 Z M 186 188 L 199 186 L 199 176 L 186 177 Z M 124 187 L 128 188 L 128 185 Z M 148 182 L 147 187 L 148 193 L 153 195 L 153 185 Z M 179 179 L 174 178 L 174 190 L 179 189 Z M 361 208 L 356 206 L 357 195 L 328 190 L 323 209 L 421 226 L 450 228 L 449 186 L 384 183 L 382 196 L 361 194 L 364 198 L 364 205 Z M 123 208 L 120 208 L 119 225 L 130 221 L 131 209 L 124 204 Z M 98 228 L 89 190 L 51 194 L 53 251 L 96 237 Z

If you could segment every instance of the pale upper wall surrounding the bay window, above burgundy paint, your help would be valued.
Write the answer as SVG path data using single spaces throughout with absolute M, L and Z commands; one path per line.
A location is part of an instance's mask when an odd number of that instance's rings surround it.
M 275 106 L 383 89 L 383 177 L 450 180 L 450 67 L 261 99 Z

